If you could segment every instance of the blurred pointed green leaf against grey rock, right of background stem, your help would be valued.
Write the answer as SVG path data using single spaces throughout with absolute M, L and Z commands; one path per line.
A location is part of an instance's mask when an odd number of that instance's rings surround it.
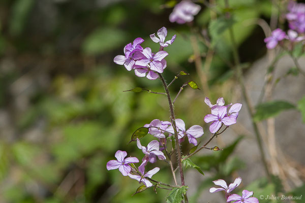
M 287 101 L 270 101 L 260 104 L 256 107 L 256 113 L 254 115 L 255 121 L 265 120 L 270 117 L 278 115 L 281 111 L 287 109 L 294 109 L 295 106 Z

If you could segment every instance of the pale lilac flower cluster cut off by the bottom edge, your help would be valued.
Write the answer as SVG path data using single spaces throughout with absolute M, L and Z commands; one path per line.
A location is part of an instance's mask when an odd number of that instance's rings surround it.
M 227 185 L 226 181 L 222 179 L 213 181 L 213 183 L 215 185 L 220 186 L 221 188 L 212 187 L 209 189 L 209 191 L 211 193 L 225 191 L 225 197 L 227 199 L 227 202 L 234 201 L 235 203 L 259 203 L 258 199 L 256 197 L 253 197 L 253 192 L 249 192 L 248 190 L 243 190 L 241 196 L 238 194 L 231 194 L 231 192 L 240 185 L 240 177 L 236 178 L 235 181 L 229 186 Z

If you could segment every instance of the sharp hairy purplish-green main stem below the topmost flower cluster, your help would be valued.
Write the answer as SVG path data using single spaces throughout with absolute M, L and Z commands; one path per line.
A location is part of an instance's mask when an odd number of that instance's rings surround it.
M 175 145 L 176 145 L 175 148 L 176 148 L 176 153 L 177 153 L 177 161 L 178 161 L 181 185 L 184 186 L 185 185 L 185 180 L 184 180 L 184 174 L 183 174 L 183 168 L 182 168 L 181 149 L 180 149 L 179 139 L 178 139 L 178 134 L 177 134 L 174 108 L 173 108 L 173 104 L 172 104 L 172 101 L 171 101 L 171 97 L 170 97 L 166 82 L 165 82 L 163 76 L 160 73 L 158 73 L 158 75 L 159 75 L 159 77 L 160 77 L 160 79 L 163 83 L 165 92 L 167 94 L 167 100 L 168 100 L 168 105 L 169 105 L 169 110 L 170 110 L 170 115 L 171 115 L 171 121 L 172 121 L 172 125 L 173 125 L 173 128 L 174 128 L 174 137 L 175 137 Z M 185 202 L 188 202 L 187 196 L 185 196 Z

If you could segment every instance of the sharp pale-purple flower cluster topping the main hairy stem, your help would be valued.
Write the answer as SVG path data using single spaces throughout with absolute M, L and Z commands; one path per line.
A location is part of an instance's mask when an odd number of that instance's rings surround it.
M 149 80 L 156 80 L 159 78 L 158 73 L 163 73 L 166 68 L 166 60 L 164 59 L 168 53 L 163 51 L 164 47 L 171 45 L 176 38 L 176 35 L 171 40 L 165 42 L 167 36 L 167 29 L 162 27 L 155 33 L 150 35 L 151 40 L 160 44 L 158 52 L 152 52 L 149 47 L 143 49 L 140 45 L 144 42 L 142 38 L 134 40 L 133 44 L 129 43 L 124 47 L 125 55 L 117 55 L 114 57 L 114 62 L 119 65 L 124 65 L 128 71 L 135 70 L 135 75 L 138 77 L 145 77 Z

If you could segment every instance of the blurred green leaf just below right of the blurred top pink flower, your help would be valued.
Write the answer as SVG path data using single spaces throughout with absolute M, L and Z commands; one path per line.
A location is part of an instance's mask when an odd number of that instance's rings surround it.
M 222 33 L 230 28 L 234 23 L 235 20 L 233 20 L 233 18 L 227 18 L 225 16 L 210 21 L 208 30 L 212 38 L 212 44 L 215 45 L 217 40 L 221 37 Z

